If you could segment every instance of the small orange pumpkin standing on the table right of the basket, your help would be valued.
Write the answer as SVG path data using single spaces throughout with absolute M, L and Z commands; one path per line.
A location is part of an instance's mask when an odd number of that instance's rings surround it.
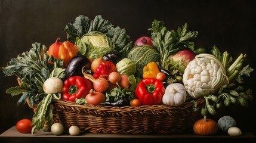
M 194 123 L 193 130 L 199 135 L 214 135 L 218 132 L 218 125 L 214 120 L 206 119 L 206 116 L 203 116 L 203 119 Z

